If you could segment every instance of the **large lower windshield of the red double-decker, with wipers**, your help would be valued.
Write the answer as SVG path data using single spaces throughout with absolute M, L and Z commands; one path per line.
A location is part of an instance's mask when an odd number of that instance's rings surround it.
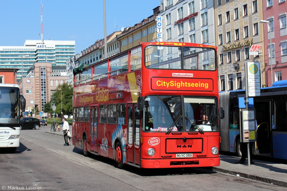
M 148 96 L 145 98 L 144 131 L 218 131 L 214 97 Z M 184 107 L 183 107 L 184 106 Z

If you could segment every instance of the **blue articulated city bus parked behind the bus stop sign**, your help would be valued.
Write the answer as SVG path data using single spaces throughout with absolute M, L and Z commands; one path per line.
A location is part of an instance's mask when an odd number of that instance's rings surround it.
M 253 153 L 278 159 L 287 159 L 287 80 L 273 83 L 272 87 L 261 88 L 260 96 L 253 97 L 257 121 L 257 141 Z M 241 156 L 238 98 L 245 97 L 245 90 L 220 92 L 220 105 L 225 117 L 220 120 L 220 151 L 236 153 Z M 249 99 L 250 100 L 250 99 Z

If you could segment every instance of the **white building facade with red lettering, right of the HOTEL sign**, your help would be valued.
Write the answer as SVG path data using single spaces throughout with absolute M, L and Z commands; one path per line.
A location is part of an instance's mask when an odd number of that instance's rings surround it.
M 162 41 L 215 46 L 214 3 L 206 0 L 160 1 Z

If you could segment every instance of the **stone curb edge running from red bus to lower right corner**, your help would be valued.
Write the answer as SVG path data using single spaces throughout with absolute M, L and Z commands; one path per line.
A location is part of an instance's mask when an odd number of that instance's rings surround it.
M 257 180 L 257 181 L 261 181 L 261 182 L 265 182 L 265 183 L 269 183 L 269 184 L 275 184 L 277 186 L 287 187 L 287 182 L 283 182 L 283 181 L 280 181 L 280 180 L 274 180 L 274 179 L 271 179 L 271 178 L 264 178 L 264 177 L 261 177 L 261 176 L 256 176 L 256 175 L 252 175 L 252 174 L 246 174 L 246 173 L 242 173 L 242 172 L 226 170 L 226 169 L 218 168 L 218 167 L 212 167 L 212 170 L 216 171 L 216 172 L 223 172 L 223 173 L 226 173 L 226 174 L 231 174 L 231 175 L 234 175 L 234 176 L 239 175 L 239 176 L 241 176 L 243 178 Z

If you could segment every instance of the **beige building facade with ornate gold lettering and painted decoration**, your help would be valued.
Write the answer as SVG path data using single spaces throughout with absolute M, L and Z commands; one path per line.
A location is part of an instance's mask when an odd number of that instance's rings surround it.
M 214 0 L 215 35 L 218 46 L 219 90 L 245 89 L 245 63 L 259 62 L 261 87 L 265 81 L 262 1 Z M 251 55 L 252 45 L 261 45 Z

